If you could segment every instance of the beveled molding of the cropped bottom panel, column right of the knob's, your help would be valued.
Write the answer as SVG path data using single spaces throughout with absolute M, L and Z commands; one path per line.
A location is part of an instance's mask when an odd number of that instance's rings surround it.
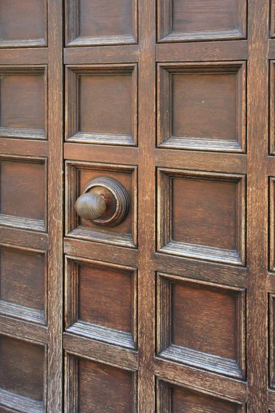
M 173 403 L 172 403 L 172 391 L 173 388 L 178 388 L 186 390 L 187 392 L 194 392 L 198 395 L 209 396 L 210 398 L 217 399 L 217 401 L 224 401 L 234 403 L 236 405 L 236 413 L 245 413 L 246 405 L 243 402 L 237 401 L 227 396 L 221 396 L 219 394 L 202 390 L 191 385 L 182 385 L 177 381 L 172 381 L 164 379 L 162 377 L 157 377 L 157 413 L 173 413 Z

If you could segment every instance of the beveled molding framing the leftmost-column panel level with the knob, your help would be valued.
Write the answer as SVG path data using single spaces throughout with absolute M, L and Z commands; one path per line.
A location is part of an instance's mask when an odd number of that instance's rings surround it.
M 34 165 L 43 165 L 45 171 L 45 194 L 44 194 L 44 220 L 37 220 L 33 218 L 17 217 L 14 215 L 5 215 L 0 213 L 0 228 L 1 226 L 12 227 L 14 229 L 23 229 L 29 231 L 37 231 L 47 233 L 47 169 L 48 160 L 42 156 L 12 156 L 4 155 L 0 153 L 0 173 L 1 173 L 1 162 L 22 162 L 31 163 Z M 42 237 L 41 237 L 42 240 Z M 7 242 L 3 240 L 4 242 Z

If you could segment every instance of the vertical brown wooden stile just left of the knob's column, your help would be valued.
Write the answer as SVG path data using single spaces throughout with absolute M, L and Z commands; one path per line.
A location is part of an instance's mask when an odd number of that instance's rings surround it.
M 63 1 L 48 0 L 49 343 L 47 412 L 63 409 Z

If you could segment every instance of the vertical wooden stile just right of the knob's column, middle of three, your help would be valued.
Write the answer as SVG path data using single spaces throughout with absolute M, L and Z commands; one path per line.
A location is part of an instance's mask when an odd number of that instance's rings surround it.
M 155 412 L 155 1 L 139 2 L 138 412 Z

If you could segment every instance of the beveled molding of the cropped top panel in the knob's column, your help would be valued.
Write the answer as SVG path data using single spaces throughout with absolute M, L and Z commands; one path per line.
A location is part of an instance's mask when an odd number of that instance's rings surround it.
M 137 0 L 131 0 L 132 34 L 117 36 L 80 36 L 79 0 L 65 0 L 65 45 L 66 47 L 102 46 L 102 45 L 135 45 L 137 44 Z

